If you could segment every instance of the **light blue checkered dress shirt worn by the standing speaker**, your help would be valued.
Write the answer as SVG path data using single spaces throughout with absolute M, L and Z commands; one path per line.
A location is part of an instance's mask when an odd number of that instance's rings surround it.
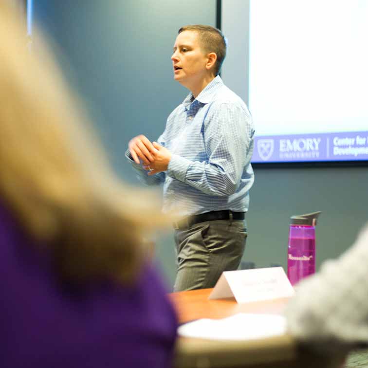
M 172 158 L 166 172 L 147 171 L 126 156 L 145 184 L 164 184 L 164 212 L 183 216 L 216 210 L 248 211 L 254 182 L 254 127 L 245 103 L 218 75 L 169 115 L 157 142 Z

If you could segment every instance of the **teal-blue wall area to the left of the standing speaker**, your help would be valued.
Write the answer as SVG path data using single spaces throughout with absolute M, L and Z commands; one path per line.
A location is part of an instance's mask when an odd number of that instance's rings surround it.
M 124 158 L 129 139 L 157 139 L 188 93 L 173 80 L 170 56 L 185 24 L 216 25 L 216 0 L 37 0 L 34 17 L 55 43 L 70 81 L 92 113 L 112 164 L 137 184 Z M 171 231 L 157 239 L 157 258 L 172 284 Z

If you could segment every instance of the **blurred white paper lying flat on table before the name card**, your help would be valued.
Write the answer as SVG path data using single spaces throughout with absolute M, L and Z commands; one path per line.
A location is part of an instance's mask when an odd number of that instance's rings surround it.
M 254 340 L 283 335 L 286 319 L 275 314 L 238 313 L 222 319 L 199 319 L 178 328 L 178 334 L 214 340 Z

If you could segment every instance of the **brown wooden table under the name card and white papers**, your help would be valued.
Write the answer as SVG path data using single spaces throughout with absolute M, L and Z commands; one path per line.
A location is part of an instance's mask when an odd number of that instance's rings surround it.
M 234 298 L 208 300 L 212 289 L 169 294 L 179 323 L 236 313 L 280 314 L 288 298 L 238 304 Z M 303 350 L 290 335 L 258 340 L 220 341 L 180 337 L 175 368 L 336 368 L 344 356 L 322 357 Z

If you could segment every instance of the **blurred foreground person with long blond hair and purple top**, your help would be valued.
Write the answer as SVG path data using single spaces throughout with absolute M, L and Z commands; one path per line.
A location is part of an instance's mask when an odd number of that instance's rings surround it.
M 42 63 L 0 1 L 0 367 L 169 367 L 176 316 L 141 241 L 167 219 L 34 46 Z

